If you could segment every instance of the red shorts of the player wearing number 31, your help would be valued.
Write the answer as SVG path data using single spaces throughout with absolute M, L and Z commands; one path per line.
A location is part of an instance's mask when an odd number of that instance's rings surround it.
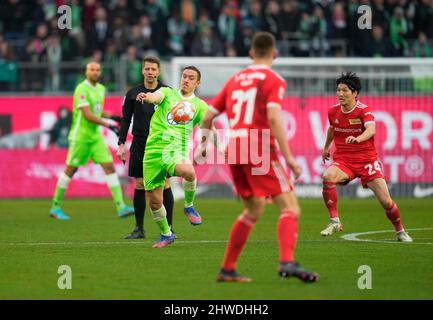
M 277 196 L 293 191 L 293 184 L 279 161 L 271 161 L 269 170 L 255 174 L 251 164 L 230 165 L 237 193 L 242 198 Z

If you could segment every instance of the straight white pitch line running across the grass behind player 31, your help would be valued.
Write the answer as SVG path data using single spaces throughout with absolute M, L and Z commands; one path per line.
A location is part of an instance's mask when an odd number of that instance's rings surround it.
M 3 242 L 0 241 L 1 246 L 103 246 L 103 245 L 143 245 L 152 243 L 152 240 L 138 240 L 138 241 L 90 241 L 90 242 Z M 251 240 L 248 243 L 267 243 L 277 242 L 277 240 Z M 342 242 L 342 240 L 319 240 L 319 239 L 306 239 L 299 240 L 298 242 Z M 227 240 L 176 240 L 176 244 L 219 244 L 227 243 Z

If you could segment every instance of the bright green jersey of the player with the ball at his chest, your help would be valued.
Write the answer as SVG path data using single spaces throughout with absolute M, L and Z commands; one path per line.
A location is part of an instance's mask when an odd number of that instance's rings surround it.
M 196 125 L 200 125 L 208 105 L 202 99 L 192 95 L 182 96 L 179 90 L 162 87 L 158 90 L 163 100 L 155 106 L 155 113 L 150 121 L 150 133 L 146 143 L 147 153 L 175 153 L 186 156 L 189 141 Z M 179 101 L 188 101 L 194 107 L 194 117 L 187 123 L 177 123 L 171 115 L 172 107 Z

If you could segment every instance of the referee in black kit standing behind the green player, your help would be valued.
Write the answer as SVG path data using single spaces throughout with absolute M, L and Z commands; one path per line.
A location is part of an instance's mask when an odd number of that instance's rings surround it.
M 155 112 L 154 105 L 136 101 L 136 97 L 140 92 L 154 92 L 164 84 L 158 81 L 160 75 L 161 62 L 155 57 L 145 57 L 143 59 L 142 73 L 144 77 L 143 84 L 129 90 L 123 100 L 123 117 L 120 124 L 119 133 L 119 148 L 117 156 L 124 163 L 126 161 L 125 141 L 131 124 L 132 116 L 134 116 L 134 124 L 132 126 L 132 135 L 134 136 L 131 144 L 131 155 L 129 158 L 128 175 L 135 180 L 134 190 L 134 211 L 136 228 L 125 239 L 140 239 L 145 238 L 143 229 L 144 211 L 146 209 L 146 193 L 143 183 L 143 158 L 146 147 L 147 136 L 149 135 L 150 119 Z M 166 180 L 164 187 L 164 207 L 167 210 L 167 220 L 170 228 L 173 223 L 173 193 L 170 188 L 170 180 Z

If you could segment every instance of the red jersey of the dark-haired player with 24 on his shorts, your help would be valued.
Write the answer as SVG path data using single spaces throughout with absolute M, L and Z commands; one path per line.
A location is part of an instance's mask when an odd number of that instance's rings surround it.
M 328 119 L 331 129 L 334 131 L 336 147 L 332 157 L 334 161 L 361 163 L 377 158 L 374 137 L 361 143 L 346 143 L 347 137 L 357 137 L 365 131 L 365 126 L 368 123 L 375 123 L 374 114 L 370 107 L 357 101 L 352 110 L 344 112 L 341 105 L 336 104 L 328 110 Z

